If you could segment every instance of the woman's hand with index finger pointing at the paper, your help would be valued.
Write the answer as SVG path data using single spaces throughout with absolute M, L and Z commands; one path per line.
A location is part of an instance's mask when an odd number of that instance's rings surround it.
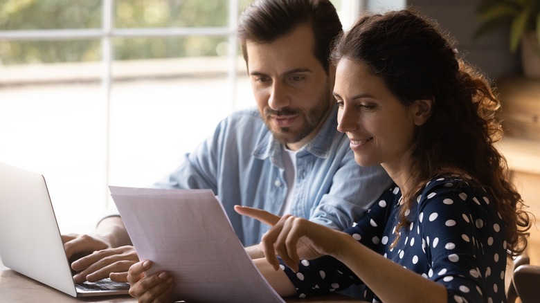
M 290 214 L 280 218 L 264 210 L 239 205 L 235 206 L 235 210 L 239 214 L 272 226 L 262 236 L 260 250 L 264 252 L 267 261 L 275 270 L 279 268 L 276 254 L 287 266 L 297 271 L 300 259 L 316 259 L 323 255 L 332 255 L 339 243 L 337 236 L 343 234 Z

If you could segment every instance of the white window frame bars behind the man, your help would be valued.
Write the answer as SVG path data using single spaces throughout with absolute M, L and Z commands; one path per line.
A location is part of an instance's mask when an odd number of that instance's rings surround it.
M 114 0 L 102 0 L 102 24 L 100 28 L 57 29 L 57 30 L 0 30 L 0 40 L 69 40 L 69 39 L 100 39 L 102 57 L 100 84 L 102 91 L 102 109 L 105 117 L 104 134 L 105 150 L 105 186 L 103 186 L 104 207 L 107 208 L 109 192 L 107 185 L 110 178 L 110 107 L 111 107 L 111 65 L 114 61 L 111 39 L 118 37 L 187 37 L 187 36 L 218 36 L 228 37 L 228 68 L 227 77 L 230 94 L 228 102 L 231 110 L 237 108 L 236 82 L 237 82 L 237 41 L 235 27 L 239 1 L 228 0 L 228 25 L 222 27 L 194 27 L 194 28 L 114 28 Z M 339 15 L 345 30 L 366 7 L 366 0 L 342 0 Z

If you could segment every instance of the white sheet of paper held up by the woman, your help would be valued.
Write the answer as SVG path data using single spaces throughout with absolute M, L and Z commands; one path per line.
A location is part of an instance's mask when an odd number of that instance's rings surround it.
M 211 190 L 109 186 L 138 257 L 167 270 L 174 299 L 285 302 L 244 250 Z

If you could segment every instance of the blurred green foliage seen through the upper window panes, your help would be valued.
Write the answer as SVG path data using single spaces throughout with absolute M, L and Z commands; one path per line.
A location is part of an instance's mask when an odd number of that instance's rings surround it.
M 250 0 L 240 0 L 239 12 Z M 226 27 L 227 0 L 116 0 L 115 28 Z M 0 30 L 98 29 L 101 0 L 3 0 Z M 112 39 L 114 59 L 219 55 L 227 37 Z M 0 64 L 98 61 L 100 39 L 0 40 Z

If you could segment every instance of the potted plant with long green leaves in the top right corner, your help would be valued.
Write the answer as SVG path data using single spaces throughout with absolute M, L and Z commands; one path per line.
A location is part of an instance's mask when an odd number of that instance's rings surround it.
M 540 77 L 540 0 L 482 0 L 477 13 L 480 26 L 475 36 L 510 26 L 510 51 L 521 44 L 525 76 Z

